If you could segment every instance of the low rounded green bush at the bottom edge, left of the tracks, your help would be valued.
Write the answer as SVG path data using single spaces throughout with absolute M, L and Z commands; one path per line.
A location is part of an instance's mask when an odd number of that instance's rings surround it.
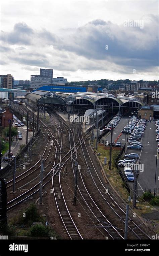
M 30 228 L 31 236 L 45 237 L 49 236 L 49 229 L 42 224 L 36 224 Z

